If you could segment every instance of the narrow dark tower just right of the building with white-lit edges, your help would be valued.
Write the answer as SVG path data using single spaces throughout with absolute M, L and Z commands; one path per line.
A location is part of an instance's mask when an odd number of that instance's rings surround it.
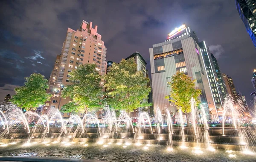
M 211 57 L 212 57 L 212 62 L 213 62 L 213 65 L 214 65 L 214 68 L 215 68 L 215 71 L 216 71 L 216 74 L 217 74 L 217 79 L 216 80 L 217 80 L 217 86 L 220 89 L 221 101 L 222 101 L 222 103 L 224 103 L 224 99 L 227 95 L 226 84 L 224 82 L 224 78 L 223 78 L 223 75 L 221 73 L 221 69 L 218 65 L 217 59 L 214 57 L 214 55 L 212 53 L 211 53 Z

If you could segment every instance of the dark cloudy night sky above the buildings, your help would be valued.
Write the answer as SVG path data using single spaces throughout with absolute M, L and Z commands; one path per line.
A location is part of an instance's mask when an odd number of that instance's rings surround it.
M 149 51 L 186 23 L 205 40 L 222 73 L 233 78 L 237 91 L 250 101 L 256 49 L 246 32 L 235 0 L 19 0 L 0 2 L 0 101 L 24 77 L 49 77 L 67 28 L 82 20 L 98 25 L 107 60 L 119 61 L 135 51 L 150 71 Z

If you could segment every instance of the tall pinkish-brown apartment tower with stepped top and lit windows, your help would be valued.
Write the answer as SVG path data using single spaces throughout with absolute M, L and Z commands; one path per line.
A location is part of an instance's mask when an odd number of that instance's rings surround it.
M 57 56 L 54 69 L 49 78 L 48 92 L 53 94 L 51 101 L 46 103 L 44 109 L 61 109 L 61 106 L 70 102 L 70 98 L 61 98 L 61 90 L 70 83 L 69 73 L 80 64 L 96 64 L 96 70 L 100 75 L 106 73 L 106 47 L 102 36 L 97 33 L 97 25 L 82 21 L 79 30 L 68 28 L 63 43 L 61 55 Z M 100 84 L 104 84 L 102 81 Z M 63 117 L 69 117 L 69 113 Z M 84 112 L 78 114 L 83 117 Z

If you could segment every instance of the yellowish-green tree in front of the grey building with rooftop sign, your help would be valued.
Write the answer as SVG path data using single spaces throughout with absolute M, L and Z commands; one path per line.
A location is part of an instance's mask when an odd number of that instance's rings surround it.
M 169 101 L 175 103 L 177 109 L 186 113 L 187 121 L 188 113 L 191 112 L 190 99 L 195 98 L 197 104 L 200 103 L 198 96 L 201 94 L 201 89 L 195 89 L 195 81 L 196 79 L 191 80 L 188 75 L 177 71 L 169 82 L 171 87 L 170 96 L 166 96 L 166 98 L 170 98 Z

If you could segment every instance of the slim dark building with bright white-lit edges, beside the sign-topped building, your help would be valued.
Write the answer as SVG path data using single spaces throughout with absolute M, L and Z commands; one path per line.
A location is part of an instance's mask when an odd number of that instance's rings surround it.
M 199 44 L 200 52 L 204 62 L 204 68 L 207 72 L 208 82 L 211 88 L 211 93 L 214 98 L 213 102 L 218 111 L 218 116 L 222 115 L 222 100 L 221 100 L 221 89 L 218 87 L 218 76 L 215 70 L 214 63 L 212 61 L 212 56 L 210 56 L 209 48 L 206 46 L 204 41 Z

